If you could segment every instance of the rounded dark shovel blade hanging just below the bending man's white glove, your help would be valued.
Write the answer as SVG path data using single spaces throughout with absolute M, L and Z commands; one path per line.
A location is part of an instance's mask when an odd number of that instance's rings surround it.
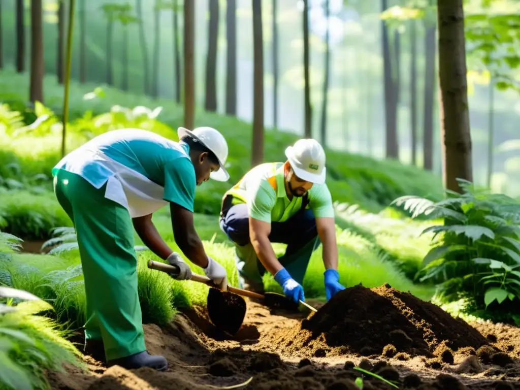
M 245 301 L 240 295 L 210 288 L 207 294 L 207 314 L 217 329 L 236 334 L 244 321 L 245 310 Z

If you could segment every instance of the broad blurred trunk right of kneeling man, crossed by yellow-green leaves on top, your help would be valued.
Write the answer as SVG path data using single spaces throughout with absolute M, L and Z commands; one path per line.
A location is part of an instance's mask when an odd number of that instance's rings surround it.
M 387 0 L 381 2 L 382 10 L 387 9 Z M 392 72 L 392 55 L 388 40 L 388 28 L 386 22 L 382 22 L 383 31 L 383 72 L 385 90 L 385 127 L 386 127 L 386 158 L 398 158 L 397 145 L 397 118 L 396 118 L 396 92 L 395 81 Z

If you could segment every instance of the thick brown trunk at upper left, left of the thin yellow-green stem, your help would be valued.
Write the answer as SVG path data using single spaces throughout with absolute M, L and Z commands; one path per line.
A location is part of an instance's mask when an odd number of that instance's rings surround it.
M 42 0 L 31 0 L 31 87 L 30 99 L 43 102 Z

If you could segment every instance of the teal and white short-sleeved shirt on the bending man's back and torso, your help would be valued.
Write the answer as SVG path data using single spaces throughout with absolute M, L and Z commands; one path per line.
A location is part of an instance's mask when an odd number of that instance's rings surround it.
M 52 170 L 80 175 L 132 217 L 151 214 L 167 202 L 193 212 L 195 170 L 186 144 L 137 128 L 101 134 L 67 154 Z

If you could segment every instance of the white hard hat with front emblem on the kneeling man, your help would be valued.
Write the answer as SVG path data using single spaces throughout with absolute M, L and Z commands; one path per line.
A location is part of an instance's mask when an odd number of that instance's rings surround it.
M 294 174 L 310 183 L 325 182 L 325 151 L 315 139 L 299 139 L 293 146 L 285 149 Z

